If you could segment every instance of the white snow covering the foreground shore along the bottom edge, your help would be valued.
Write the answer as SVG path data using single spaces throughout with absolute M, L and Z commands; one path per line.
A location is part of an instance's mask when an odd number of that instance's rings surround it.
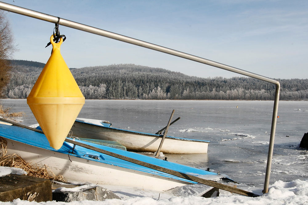
M 0 167 L 0 176 L 4 176 L 10 173 L 25 174 L 25 171 L 16 168 Z M 75 188 L 58 188 L 57 191 L 79 191 L 93 185 L 87 184 Z M 69 204 L 69 205 L 133 205 L 133 204 L 147 204 L 147 205 L 191 205 L 191 204 L 244 204 L 244 205 L 272 205 L 272 204 L 296 204 L 296 205 L 308 205 L 308 179 L 306 180 L 293 180 L 290 182 L 276 181 L 270 186 L 269 193 L 261 195 L 259 197 L 251 198 L 247 196 L 235 195 L 228 191 L 220 191 L 219 197 L 203 198 L 199 196 L 175 196 L 169 194 L 160 194 L 156 192 L 148 192 L 145 190 L 139 190 L 133 187 L 115 187 L 115 186 L 103 186 L 116 195 L 121 197 L 120 199 L 107 199 L 105 201 L 80 201 L 80 202 L 29 202 L 15 199 L 13 202 L 0 202 L 0 205 L 51 205 L 51 204 Z M 261 190 L 255 191 L 256 194 L 261 194 Z

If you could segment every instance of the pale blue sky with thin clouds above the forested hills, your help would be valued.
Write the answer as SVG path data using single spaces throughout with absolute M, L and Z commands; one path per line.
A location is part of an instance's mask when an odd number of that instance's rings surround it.
M 308 1 L 6 0 L 271 78 L 308 78 Z M 15 59 L 46 63 L 54 24 L 8 13 Z M 133 63 L 199 77 L 236 73 L 60 26 L 70 68 Z

